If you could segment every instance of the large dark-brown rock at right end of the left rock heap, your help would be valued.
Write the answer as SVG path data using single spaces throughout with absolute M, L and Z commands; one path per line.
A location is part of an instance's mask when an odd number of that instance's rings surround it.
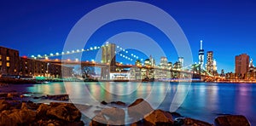
M 56 106 L 59 104 L 59 106 Z M 55 117 L 67 122 L 79 121 L 81 118 L 81 112 L 71 103 L 57 103 L 50 104 L 49 110 L 46 115 L 50 117 Z

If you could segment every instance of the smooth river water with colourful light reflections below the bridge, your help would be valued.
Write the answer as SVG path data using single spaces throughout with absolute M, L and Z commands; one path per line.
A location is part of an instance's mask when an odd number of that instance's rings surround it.
M 256 84 L 252 83 L 44 83 L 0 88 L 1 92 L 11 90 L 32 92 L 38 96 L 70 94 L 71 101 L 90 105 L 102 100 L 121 100 L 130 104 L 137 98 L 144 98 L 154 108 L 169 111 L 170 106 L 177 107 L 177 112 L 184 117 L 213 123 L 214 118 L 222 114 L 241 114 L 256 125 Z M 181 106 L 177 102 L 174 104 L 175 94 L 175 101 L 183 101 Z

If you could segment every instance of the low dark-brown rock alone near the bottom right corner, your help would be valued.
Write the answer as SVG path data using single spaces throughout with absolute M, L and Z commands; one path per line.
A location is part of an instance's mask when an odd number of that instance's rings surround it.
M 241 115 L 226 115 L 216 117 L 214 124 L 216 126 L 233 126 L 233 125 L 243 125 L 250 126 L 251 124 L 247 120 L 247 117 Z

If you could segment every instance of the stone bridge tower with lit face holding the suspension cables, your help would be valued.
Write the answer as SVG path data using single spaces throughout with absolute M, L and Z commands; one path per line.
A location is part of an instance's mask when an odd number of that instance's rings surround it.
M 114 43 L 107 43 L 102 47 L 102 63 L 109 64 L 109 67 L 102 68 L 102 78 L 109 78 L 109 72 L 115 72 L 115 49 Z

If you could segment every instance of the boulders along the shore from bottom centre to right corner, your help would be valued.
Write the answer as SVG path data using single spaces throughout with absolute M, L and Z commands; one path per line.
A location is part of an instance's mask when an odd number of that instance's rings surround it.
M 137 99 L 127 107 L 129 118 L 133 119 L 125 123 L 125 109 L 113 106 L 113 103 L 120 103 L 119 101 L 110 102 L 102 101 L 102 104 L 109 106 L 102 109 L 101 112 L 92 118 L 90 126 L 103 125 L 132 125 L 132 126 L 212 126 L 212 123 L 207 123 L 201 120 L 190 117 L 182 117 L 177 112 L 164 112 L 160 109 L 154 110 L 146 100 Z M 122 102 L 121 102 L 122 103 Z M 125 104 L 119 104 L 125 106 Z M 127 115 L 127 114 L 126 114 Z M 225 115 L 217 117 L 214 121 L 216 126 L 249 126 L 247 118 L 244 116 Z

